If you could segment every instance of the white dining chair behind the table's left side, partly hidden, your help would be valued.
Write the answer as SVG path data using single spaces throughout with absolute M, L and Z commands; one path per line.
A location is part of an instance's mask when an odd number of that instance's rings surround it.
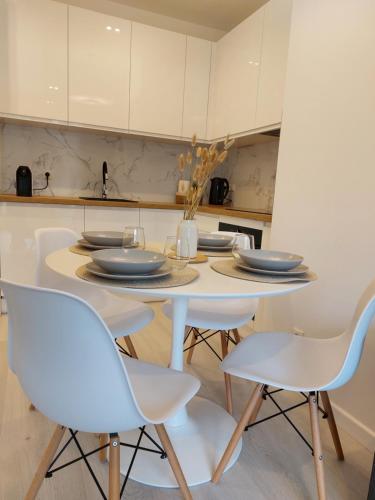
M 36 276 L 38 286 L 53 288 L 78 295 L 89 302 L 105 321 L 113 337 L 123 338 L 127 352 L 137 358 L 130 335 L 141 330 L 154 318 L 150 306 L 114 293 L 94 287 L 84 281 L 78 282 L 59 276 L 45 263 L 47 255 L 62 248 L 75 245 L 78 235 L 71 229 L 62 227 L 40 228 L 35 231 Z M 123 346 L 119 345 L 121 350 Z

